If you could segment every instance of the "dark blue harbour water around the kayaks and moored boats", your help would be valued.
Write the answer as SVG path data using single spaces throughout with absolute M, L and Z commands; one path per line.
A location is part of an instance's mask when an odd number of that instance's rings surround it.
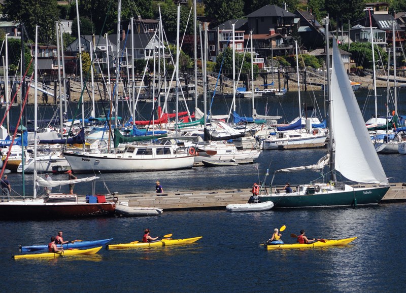
M 381 93 L 380 96 L 384 95 Z M 364 92 L 359 101 L 365 118 L 371 113 L 367 100 Z M 278 106 L 282 101 L 284 109 Z M 243 111 L 248 113 L 250 101 L 239 102 Z M 259 108 L 272 108 L 269 114 L 282 114 L 287 120 L 297 116 L 294 94 L 259 102 L 258 113 L 262 114 Z M 366 106 L 363 106 L 365 102 Z M 214 114 L 221 113 L 221 107 L 226 103 L 219 104 L 213 110 Z M 144 105 L 145 108 L 147 106 L 150 105 Z M 147 109 L 145 112 L 148 112 Z M 268 182 L 276 169 L 314 164 L 325 152 L 269 151 L 263 152 L 253 165 L 98 174 L 100 179 L 96 188 L 99 192 L 106 192 L 107 188 L 119 193 L 153 192 L 157 179 L 165 191 L 249 188 L 253 182 L 264 179 L 266 169 L 269 169 Z M 391 182 L 406 182 L 406 156 L 379 157 L 387 176 L 392 178 Z M 66 174 L 52 177 L 54 180 L 65 179 Z M 299 184 L 317 178 L 320 174 L 311 171 L 278 174 L 274 184 L 286 181 Z M 9 179 L 13 192 L 22 194 L 21 174 L 10 174 Z M 25 175 L 25 182 L 25 193 L 31 195 L 32 175 Z M 61 191 L 66 192 L 67 188 Z M 75 187 L 78 193 L 90 191 L 91 187 L 87 184 Z M 398 203 L 356 209 L 270 210 L 258 213 L 178 211 L 148 218 L 0 221 L 0 291 L 256 292 L 302 291 L 304 288 L 319 292 L 403 291 L 406 273 L 406 252 L 402 249 L 403 235 L 406 234 L 405 210 L 406 204 Z M 260 244 L 270 237 L 274 228 L 282 225 L 287 226 L 282 233 L 287 243 L 294 241 L 289 235 L 298 234 L 300 229 L 305 229 L 310 237 L 339 239 L 356 236 L 358 239 L 345 247 L 265 251 Z M 58 230 L 63 230 L 66 240 L 114 238 L 111 243 L 126 243 L 139 240 L 145 228 L 150 228 L 153 236 L 173 233 L 174 238 L 203 238 L 184 246 L 122 251 L 102 249 L 96 255 L 55 260 L 11 259 L 12 254 L 18 253 L 18 244 L 48 243 L 50 236 L 56 235 Z

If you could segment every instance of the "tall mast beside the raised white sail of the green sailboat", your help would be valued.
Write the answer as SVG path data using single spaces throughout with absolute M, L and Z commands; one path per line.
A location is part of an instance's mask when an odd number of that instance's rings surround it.
M 334 135 L 332 132 L 332 104 L 331 104 L 331 74 L 330 74 L 330 32 L 328 31 L 328 15 L 325 18 L 325 31 L 326 31 L 326 66 L 327 66 L 327 89 L 328 89 L 328 151 L 330 154 L 330 172 L 331 172 L 331 180 L 335 181 L 335 160 L 334 160 Z

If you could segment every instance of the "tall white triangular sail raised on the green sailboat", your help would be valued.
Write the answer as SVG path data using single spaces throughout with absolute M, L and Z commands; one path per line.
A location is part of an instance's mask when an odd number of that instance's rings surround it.
M 332 43 L 330 119 L 335 169 L 353 181 L 386 185 L 388 179 L 365 127 L 339 48 L 335 41 Z

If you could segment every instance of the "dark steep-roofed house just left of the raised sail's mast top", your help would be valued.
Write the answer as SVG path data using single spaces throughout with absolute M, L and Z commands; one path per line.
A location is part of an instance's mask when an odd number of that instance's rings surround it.
M 324 27 L 317 21 L 316 17 L 309 11 L 296 10 L 295 15 L 299 17 L 298 33 L 300 45 L 307 50 L 323 47 Z

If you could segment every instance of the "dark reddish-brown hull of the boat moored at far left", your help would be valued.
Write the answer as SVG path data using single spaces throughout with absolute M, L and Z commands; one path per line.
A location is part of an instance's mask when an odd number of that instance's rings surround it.
M 114 215 L 116 204 L 105 203 L 44 203 L 43 200 L 0 203 L 0 219 L 55 219 Z

